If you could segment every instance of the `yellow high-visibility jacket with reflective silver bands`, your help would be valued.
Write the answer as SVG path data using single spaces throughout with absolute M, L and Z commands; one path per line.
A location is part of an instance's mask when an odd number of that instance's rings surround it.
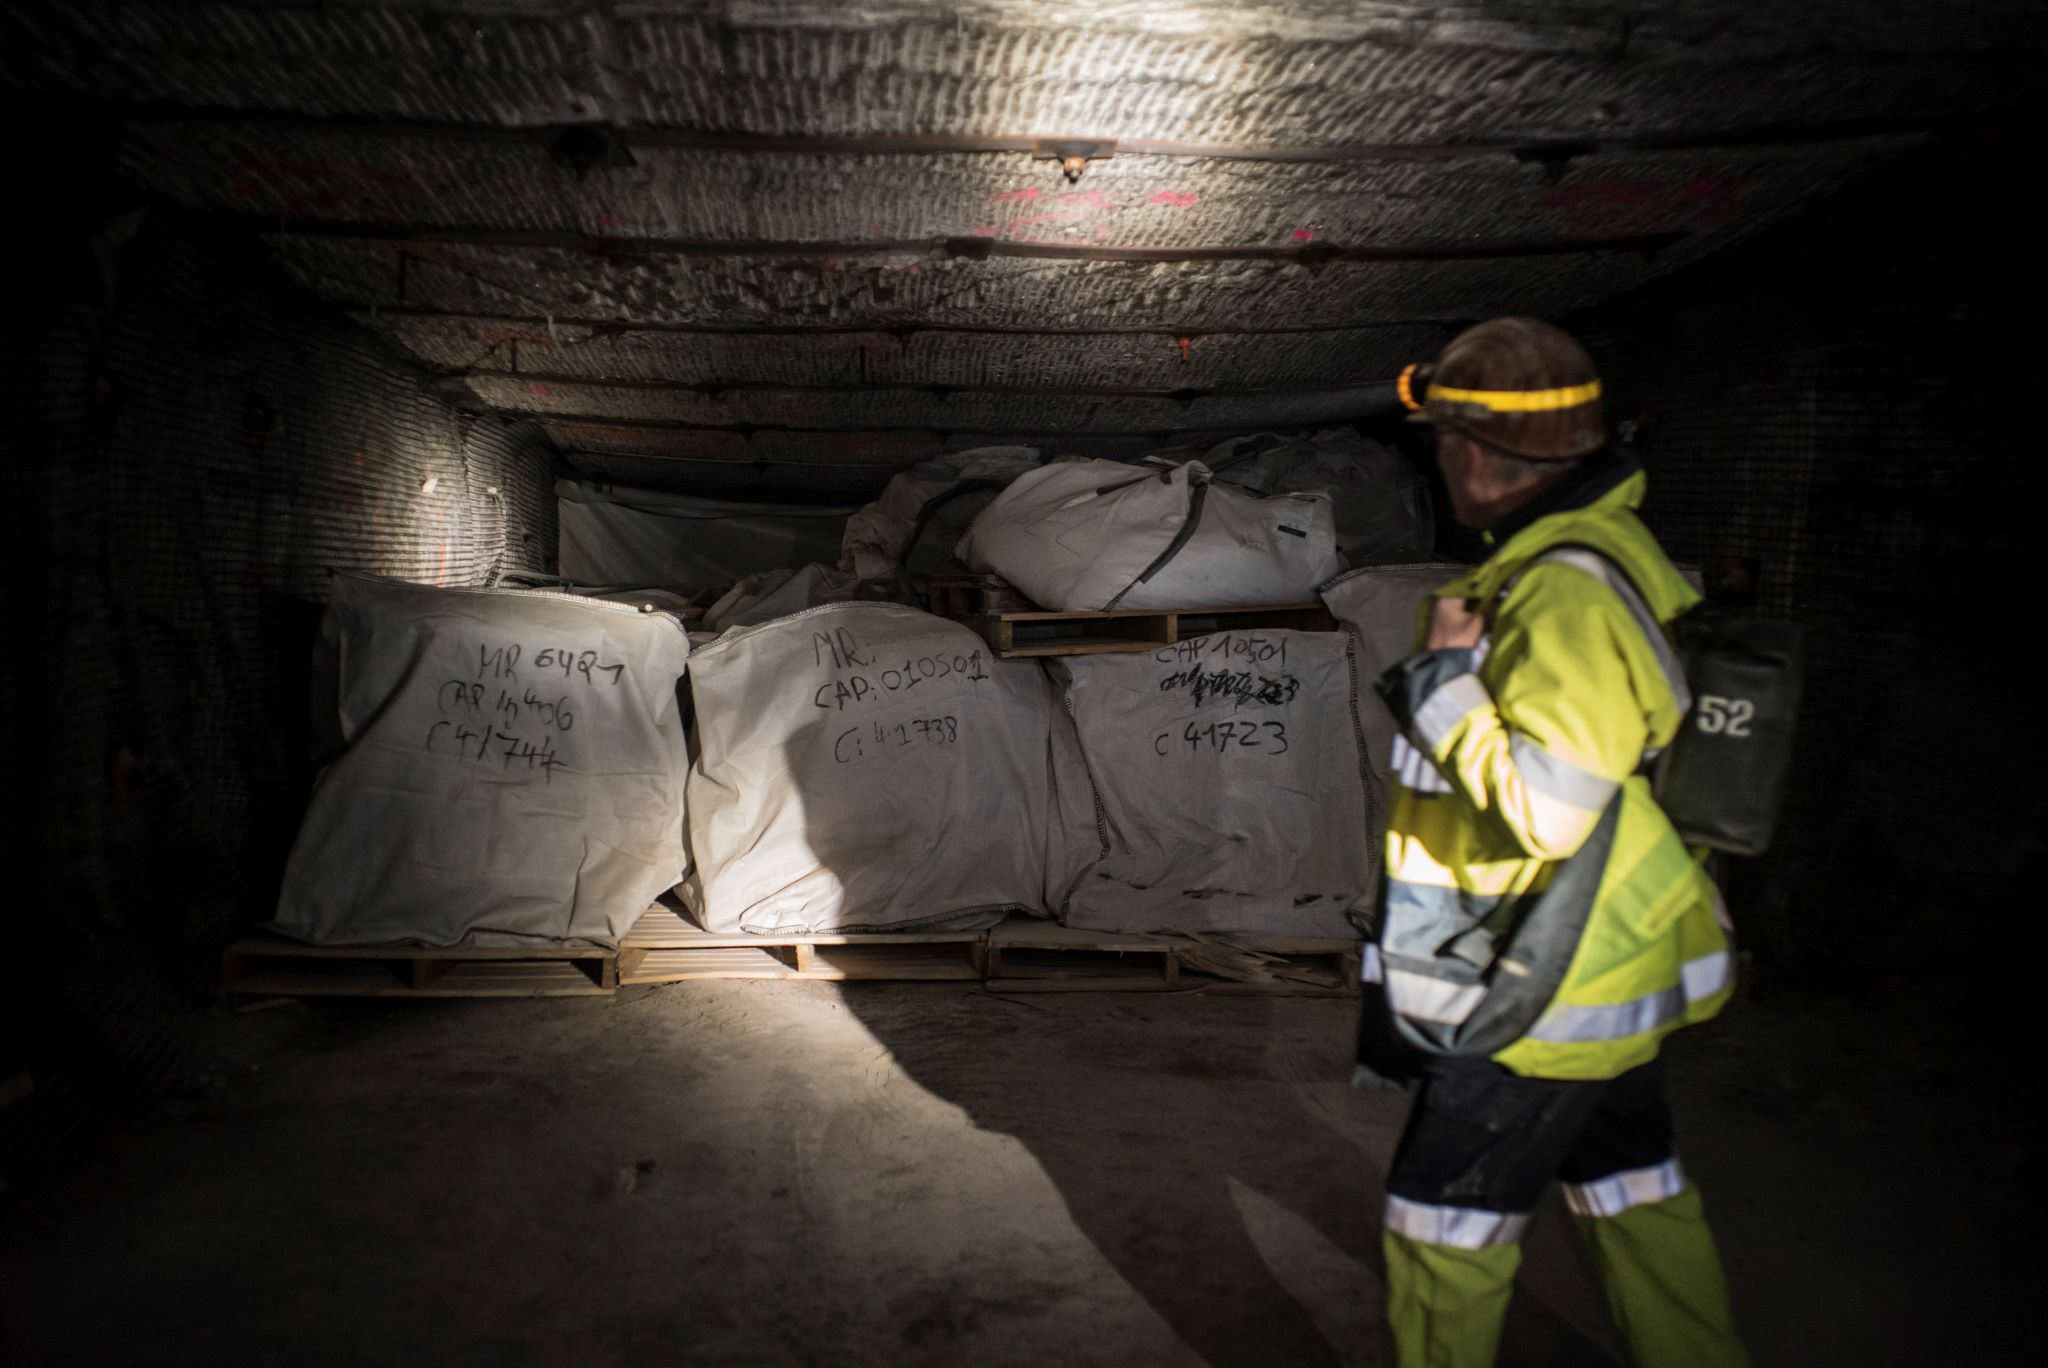
M 1438 590 L 1491 604 L 1477 649 L 1380 680 L 1403 735 L 1368 977 L 1413 1040 L 1532 1077 L 1624 1073 L 1733 987 L 1720 895 L 1640 772 L 1688 707 L 1665 627 L 1698 596 L 1640 469 L 1602 485 Z

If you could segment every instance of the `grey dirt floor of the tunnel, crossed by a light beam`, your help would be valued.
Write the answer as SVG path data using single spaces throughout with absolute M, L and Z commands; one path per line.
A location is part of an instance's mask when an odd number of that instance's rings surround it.
M 0 1360 L 1374 1364 L 1405 1102 L 1346 1085 L 1354 1012 L 221 1008 L 180 1096 L 6 1198 Z M 1925 1020 L 1778 995 L 1669 1051 L 1759 1364 L 2036 1362 L 2038 1132 Z M 1501 1362 L 1618 1362 L 1554 1198 L 1526 1251 Z

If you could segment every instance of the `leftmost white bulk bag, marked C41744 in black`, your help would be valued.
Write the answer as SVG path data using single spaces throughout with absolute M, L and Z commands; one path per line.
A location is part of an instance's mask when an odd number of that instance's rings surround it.
M 616 944 L 688 864 L 668 612 L 336 575 L 322 770 L 274 930 L 311 944 Z

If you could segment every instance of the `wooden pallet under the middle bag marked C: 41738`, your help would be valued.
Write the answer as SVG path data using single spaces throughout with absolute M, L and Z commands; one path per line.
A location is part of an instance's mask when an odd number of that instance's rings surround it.
M 649 907 L 618 946 L 618 983 L 688 979 L 981 979 L 987 932 L 705 932 Z

